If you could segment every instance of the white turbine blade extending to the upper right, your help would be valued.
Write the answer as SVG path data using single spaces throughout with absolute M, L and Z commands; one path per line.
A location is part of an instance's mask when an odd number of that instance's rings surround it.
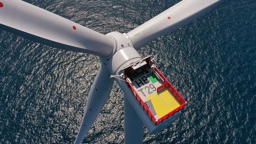
M 222 0 L 182 0 L 143 25 L 127 33 L 136 49 L 187 25 Z

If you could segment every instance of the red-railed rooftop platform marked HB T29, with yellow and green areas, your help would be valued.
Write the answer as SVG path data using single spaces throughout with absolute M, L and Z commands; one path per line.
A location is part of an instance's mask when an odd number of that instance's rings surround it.
M 158 124 L 180 111 L 186 100 L 154 64 L 151 56 L 124 68 L 127 85 L 150 119 Z

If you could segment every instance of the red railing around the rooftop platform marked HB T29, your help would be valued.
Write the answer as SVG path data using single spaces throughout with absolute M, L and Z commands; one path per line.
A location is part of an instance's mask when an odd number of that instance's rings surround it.
M 169 118 L 170 116 L 173 116 L 176 112 L 180 111 L 182 108 L 184 108 L 184 106 L 186 105 L 187 101 L 183 98 L 183 96 L 175 89 L 175 87 L 171 84 L 171 82 L 169 80 L 166 79 L 166 77 L 161 73 L 161 71 L 156 68 L 156 66 L 154 64 L 152 64 L 154 66 L 155 72 L 158 74 L 158 76 L 160 76 L 160 80 L 164 83 L 162 86 L 159 86 L 157 88 L 157 91 L 163 89 L 164 87 L 167 87 L 170 92 L 172 93 L 172 95 L 174 95 L 174 97 L 180 102 L 180 106 L 177 107 L 175 110 L 167 113 L 166 115 L 162 116 L 159 119 L 156 119 L 154 117 L 154 115 L 150 112 L 149 108 L 146 106 L 146 104 L 143 102 L 143 100 L 140 98 L 139 94 L 136 92 L 136 90 L 133 88 L 132 84 L 130 84 L 129 82 L 126 82 L 127 85 L 129 86 L 130 90 L 133 92 L 133 95 L 135 96 L 135 98 L 139 101 L 140 105 L 142 105 L 143 109 L 146 111 L 146 113 L 149 115 L 150 119 L 155 123 L 158 124 L 160 122 L 163 122 L 165 119 Z M 125 77 L 126 81 L 129 81 L 127 79 L 127 77 Z

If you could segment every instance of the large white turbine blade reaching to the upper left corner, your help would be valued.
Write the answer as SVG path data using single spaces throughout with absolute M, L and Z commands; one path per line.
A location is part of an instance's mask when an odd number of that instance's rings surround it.
M 0 28 L 48 46 L 108 57 L 110 37 L 21 0 L 1 0 Z

